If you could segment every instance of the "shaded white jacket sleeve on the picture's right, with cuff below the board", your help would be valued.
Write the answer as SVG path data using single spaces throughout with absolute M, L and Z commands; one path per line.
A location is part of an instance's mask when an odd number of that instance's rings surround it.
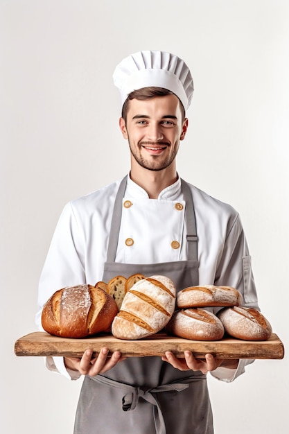
M 236 216 L 233 225 L 228 228 L 224 248 L 218 261 L 215 285 L 228 285 L 238 289 L 243 297 L 243 306 L 260 310 L 252 272 L 252 261 L 239 216 Z M 216 309 L 215 313 L 218 310 L 220 309 Z M 253 362 L 250 359 L 240 359 L 236 370 L 218 367 L 211 372 L 211 375 L 220 381 L 229 383 L 243 374 L 245 366 Z

